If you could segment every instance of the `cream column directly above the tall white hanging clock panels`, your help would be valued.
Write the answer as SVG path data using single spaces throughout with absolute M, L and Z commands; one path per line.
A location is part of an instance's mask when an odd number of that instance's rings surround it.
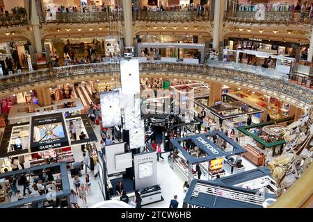
M 133 15 L 131 12 L 131 1 L 123 0 L 123 13 L 124 13 L 124 28 L 125 28 L 125 45 L 133 46 L 134 34 L 133 34 Z

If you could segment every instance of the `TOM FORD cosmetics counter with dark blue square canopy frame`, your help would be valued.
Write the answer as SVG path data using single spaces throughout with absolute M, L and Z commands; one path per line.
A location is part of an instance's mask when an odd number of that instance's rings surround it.
M 224 151 L 214 142 L 211 142 L 209 137 L 214 135 L 225 139 L 232 146 L 231 151 Z M 217 175 L 225 176 L 226 172 L 223 169 L 225 159 L 230 168 L 236 167 L 238 171 L 244 170 L 241 160 L 237 160 L 232 166 L 233 162 L 230 162 L 229 157 L 240 155 L 246 150 L 220 131 L 172 139 L 170 142 L 174 146 L 172 169 L 182 181 L 190 182 L 192 180 L 196 173 L 197 164 L 202 171 L 202 179 L 213 180 Z M 230 171 L 233 172 L 234 170 Z

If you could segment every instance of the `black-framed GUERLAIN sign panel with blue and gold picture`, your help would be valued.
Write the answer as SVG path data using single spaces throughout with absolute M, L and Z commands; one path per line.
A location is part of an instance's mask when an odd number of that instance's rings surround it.
M 63 114 L 31 117 L 31 153 L 70 146 Z

